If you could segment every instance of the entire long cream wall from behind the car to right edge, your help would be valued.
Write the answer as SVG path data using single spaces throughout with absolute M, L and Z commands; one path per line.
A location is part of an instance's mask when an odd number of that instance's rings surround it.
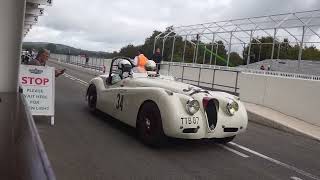
M 164 62 L 160 72 L 186 83 L 239 95 L 244 102 L 320 127 L 319 76 L 180 62 Z

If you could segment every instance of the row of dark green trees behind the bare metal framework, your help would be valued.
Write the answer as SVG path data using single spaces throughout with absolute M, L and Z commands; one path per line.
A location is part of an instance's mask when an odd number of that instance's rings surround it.
M 171 27 L 167 28 L 167 32 L 171 31 Z M 160 31 L 153 31 L 152 35 L 145 39 L 144 44 L 134 46 L 129 44 L 120 49 L 117 55 L 121 56 L 129 56 L 134 57 L 138 49 L 141 49 L 144 54 L 151 58 L 154 47 L 154 39 L 160 34 Z M 176 35 L 176 34 L 171 34 Z M 205 43 L 199 41 L 197 58 L 195 57 L 195 49 L 196 47 L 191 43 L 186 43 L 186 47 L 184 50 L 185 41 L 181 36 L 176 36 L 175 45 L 174 45 L 174 53 L 172 56 L 172 44 L 174 38 L 168 38 L 165 41 L 164 49 L 161 49 L 163 52 L 163 59 L 166 61 L 170 61 L 171 58 L 173 61 L 182 61 L 183 52 L 184 61 L 185 62 L 196 62 L 196 63 L 205 63 L 209 64 L 211 59 L 211 64 L 217 65 L 226 65 L 228 58 L 228 50 L 225 43 L 221 40 L 215 41 L 214 46 L 212 43 Z M 197 44 L 197 39 L 192 39 L 191 42 Z M 162 39 L 156 42 L 156 47 L 162 48 L 163 41 Z M 218 44 L 218 46 L 217 46 Z M 273 37 L 265 36 L 265 37 L 257 37 L 252 39 L 251 41 L 251 49 L 250 49 L 250 63 L 262 61 L 265 59 L 271 59 L 272 55 L 272 46 L 273 46 Z M 280 49 L 279 49 L 280 48 Z M 273 59 L 289 59 L 289 60 L 297 60 L 299 55 L 299 44 L 291 43 L 288 39 L 283 39 L 282 41 L 275 40 L 274 46 L 274 55 Z M 238 66 L 244 65 L 247 63 L 249 52 L 249 46 L 245 46 L 241 52 L 241 55 L 238 52 L 230 52 L 230 66 Z M 279 54 L 278 54 L 279 52 Z M 315 45 L 304 46 L 302 49 L 302 59 L 303 60 L 320 60 L 320 50 L 316 48 Z

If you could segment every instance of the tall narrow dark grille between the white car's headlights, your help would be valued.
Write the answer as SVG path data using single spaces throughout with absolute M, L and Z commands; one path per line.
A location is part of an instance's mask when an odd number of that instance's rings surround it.
M 208 125 L 213 130 L 217 125 L 219 102 L 216 99 L 203 98 L 203 107 L 207 113 Z

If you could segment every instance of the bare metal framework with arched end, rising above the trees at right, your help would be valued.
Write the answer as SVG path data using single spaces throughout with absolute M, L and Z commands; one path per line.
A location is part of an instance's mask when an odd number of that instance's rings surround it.
M 259 46 L 260 61 L 262 46 L 271 48 L 266 54 L 268 58 L 279 59 L 281 49 L 297 45 L 297 68 L 300 70 L 303 48 L 320 44 L 319 27 L 320 9 L 173 26 L 154 38 L 153 51 L 162 47 L 162 56 L 171 62 L 188 59 L 193 63 L 216 64 L 218 59 L 230 66 L 232 52 L 243 52 L 246 64 L 250 64 L 255 47 Z M 261 37 L 270 37 L 271 41 L 264 42 Z M 226 57 L 218 50 L 224 46 Z

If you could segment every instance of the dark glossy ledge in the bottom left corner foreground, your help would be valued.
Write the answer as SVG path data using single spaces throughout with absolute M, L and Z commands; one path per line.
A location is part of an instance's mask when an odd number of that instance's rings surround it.
M 0 94 L 0 179 L 55 180 L 22 94 Z

